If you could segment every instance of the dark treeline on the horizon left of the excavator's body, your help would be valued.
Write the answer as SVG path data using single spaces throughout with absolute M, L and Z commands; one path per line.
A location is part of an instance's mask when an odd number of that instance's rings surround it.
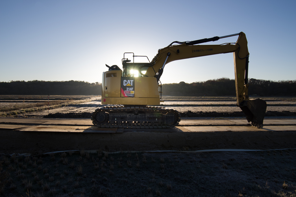
M 84 81 L 0 82 L 0 95 L 101 95 L 102 85 Z

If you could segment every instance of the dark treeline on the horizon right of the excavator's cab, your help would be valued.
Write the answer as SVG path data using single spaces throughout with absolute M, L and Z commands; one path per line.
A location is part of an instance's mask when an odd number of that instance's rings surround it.
M 249 79 L 249 95 L 296 96 L 296 80 L 267 81 Z M 162 94 L 170 96 L 235 96 L 235 80 L 220 78 L 191 84 L 180 82 L 163 84 Z

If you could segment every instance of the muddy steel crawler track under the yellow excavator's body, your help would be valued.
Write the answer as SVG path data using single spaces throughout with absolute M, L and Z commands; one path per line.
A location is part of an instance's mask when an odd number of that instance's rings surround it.
M 91 120 L 106 128 L 169 128 L 181 121 L 177 110 L 150 106 L 105 106 L 96 109 Z

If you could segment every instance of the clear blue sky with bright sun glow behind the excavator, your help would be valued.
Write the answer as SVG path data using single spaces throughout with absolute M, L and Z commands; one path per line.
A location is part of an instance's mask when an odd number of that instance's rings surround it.
M 295 80 L 296 1 L 0 1 L 0 81 L 102 82 L 124 52 L 244 32 L 249 77 Z M 236 42 L 236 37 L 209 44 Z M 141 62 L 141 60 L 140 60 Z M 174 61 L 162 83 L 234 79 L 233 54 Z

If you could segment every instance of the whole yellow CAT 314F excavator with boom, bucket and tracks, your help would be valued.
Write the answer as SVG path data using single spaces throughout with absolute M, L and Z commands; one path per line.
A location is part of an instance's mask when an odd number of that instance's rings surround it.
M 199 45 L 221 38 L 238 35 L 236 43 L 221 45 Z M 117 65 L 106 66 L 108 71 L 102 76 L 102 104 L 108 105 L 96 109 L 91 120 L 97 127 L 117 128 L 169 128 L 181 121 L 180 113 L 165 107 L 155 107 L 161 99 L 160 77 L 166 64 L 171 61 L 209 56 L 220 53 L 233 53 L 237 106 L 246 115 L 252 126 L 263 128 L 266 102 L 261 99 L 250 100 L 248 95 L 249 52 L 247 38 L 243 32 L 222 37 L 201 40 L 175 41 L 159 49 L 157 55 L 149 61 L 147 56 L 135 56 L 124 53 L 123 70 Z M 133 62 L 127 55 L 133 55 Z M 135 57 L 147 57 L 149 62 L 136 63 Z M 160 91 L 159 91 L 160 87 Z

